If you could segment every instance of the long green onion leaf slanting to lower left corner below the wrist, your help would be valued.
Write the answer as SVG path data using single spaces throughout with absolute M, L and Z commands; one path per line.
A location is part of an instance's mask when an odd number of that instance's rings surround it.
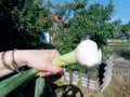
M 29 81 L 34 77 L 36 77 L 37 73 L 38 73 L 38 70 L 29 69 L 29 70 L 23 71 L 22 73 L 17 73 L 13 77 L 10 77 L 1 81 L 0 82 L 0 97 L 5 97 L 10 92 L 15 89 L 22 83 Z

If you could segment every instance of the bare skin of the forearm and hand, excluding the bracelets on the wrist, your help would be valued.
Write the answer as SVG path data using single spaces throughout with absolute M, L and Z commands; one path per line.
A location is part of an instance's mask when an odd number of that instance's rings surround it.
M 11 52 L 5 53 L 5 61 L 11 66 Z M 2 52 L 0 53 L 1 57 Z M 40 70 L 40 77 L 48 77 L 53 74 L 62 74 L 63 70 L 60 67 L 52 65 L 52 59 L 58 57 L 60 53 L 56 50 L 17 50 L 14 53 L 14 59 L 18 67 L 28 66 Z M 0 60 L 0 78 L 13 71 L 6 69 Z

